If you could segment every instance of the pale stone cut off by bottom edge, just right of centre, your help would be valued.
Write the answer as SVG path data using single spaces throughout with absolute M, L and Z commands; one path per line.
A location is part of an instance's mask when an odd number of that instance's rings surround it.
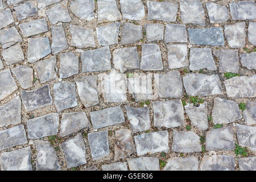
M 127 158 L 130 171 L 160 171 L 158 158 Z

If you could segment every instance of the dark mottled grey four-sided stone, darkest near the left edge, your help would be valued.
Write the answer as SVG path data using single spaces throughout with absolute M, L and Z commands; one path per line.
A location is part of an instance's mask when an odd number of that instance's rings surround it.
M 38 89 L 20 93 L 22 103 L 27 111 L 39 109 L 52 104 L 52 96 L 49 90 L 49 85 L 44 85 Z

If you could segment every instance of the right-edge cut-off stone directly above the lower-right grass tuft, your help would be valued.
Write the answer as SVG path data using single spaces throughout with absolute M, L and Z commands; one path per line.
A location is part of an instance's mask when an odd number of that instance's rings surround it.
M 256 151 L 256 126 L 245 126 L 237 124 L 237 139 L 242 147 L 248 147 Z

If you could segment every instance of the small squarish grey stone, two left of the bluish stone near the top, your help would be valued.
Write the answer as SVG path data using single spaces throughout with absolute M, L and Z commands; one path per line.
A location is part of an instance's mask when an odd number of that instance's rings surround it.
M 145 24 L 146 36 L 149 42 L 163 40 L 163 24 Z

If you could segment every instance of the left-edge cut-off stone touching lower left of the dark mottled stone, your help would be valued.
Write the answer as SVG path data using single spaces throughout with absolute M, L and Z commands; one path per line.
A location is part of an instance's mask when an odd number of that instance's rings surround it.
M 21 122 L 21 101 L 19 96 L 0 106 L 0 127 L 18 125 Z

